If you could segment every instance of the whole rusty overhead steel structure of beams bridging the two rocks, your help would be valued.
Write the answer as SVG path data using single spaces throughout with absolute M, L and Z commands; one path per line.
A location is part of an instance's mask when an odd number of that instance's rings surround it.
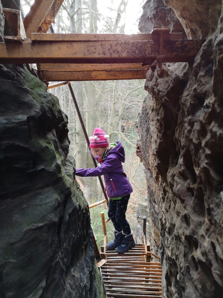
M 62 2 L 35 0 L 23 22 L 18 11 L 4 10 L 14 36 L 0 43 L 0 63 L 37 63 L 45 83 L 144 79 L 162 62 L 193 61 L 204 42 L 168 29 L 134 35 L 36 33 L 48 31 Z

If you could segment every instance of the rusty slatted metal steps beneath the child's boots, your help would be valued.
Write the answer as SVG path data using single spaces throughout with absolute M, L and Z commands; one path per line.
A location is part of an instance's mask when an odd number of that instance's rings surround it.
M 147 253 L 145 244 L 136 244 L 125 254 L 105 250 L 98 267 L 108 298 L 162 297 L 161 263 L 147 262 Z

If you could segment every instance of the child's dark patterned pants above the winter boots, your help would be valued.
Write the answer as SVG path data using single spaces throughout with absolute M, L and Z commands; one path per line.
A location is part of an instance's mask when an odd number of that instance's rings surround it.
M 121 200 L 109 199 L 108 216 L 111 219 L 114 228 L 119 232 L 123 230 L 123 233 L 125 234 L 131 234 L 129 223 L 125 218 L 129 198 L 130 194 L 126 195 Z

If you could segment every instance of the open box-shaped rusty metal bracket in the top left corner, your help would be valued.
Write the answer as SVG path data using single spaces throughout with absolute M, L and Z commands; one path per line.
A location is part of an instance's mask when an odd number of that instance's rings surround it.
M 4 41 L 24 41 L 26 32 L 20 10 L 3 8 L 3 12 L 12 31 L 12 36 L 3 36 Z

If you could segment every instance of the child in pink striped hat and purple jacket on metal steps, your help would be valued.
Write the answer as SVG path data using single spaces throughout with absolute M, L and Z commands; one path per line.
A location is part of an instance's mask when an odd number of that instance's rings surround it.
M 133 190 L 122 166 L 122 162 L 125 162 L 125 150 L 120 142 L 109 144 L 108 138 L 102 129 L 95 128 L 93 136 L 90 137 L 90 148 L 101 166 L 94 169 L 76 169 L 76 175 L 104 176 L 109 197 L 108 216 L 114 225 L 114 240 L 106 247 L 116 248 L 116 252 L 123 254 L 135 246 L 133 232 L 125 218 L 128 200 Z

